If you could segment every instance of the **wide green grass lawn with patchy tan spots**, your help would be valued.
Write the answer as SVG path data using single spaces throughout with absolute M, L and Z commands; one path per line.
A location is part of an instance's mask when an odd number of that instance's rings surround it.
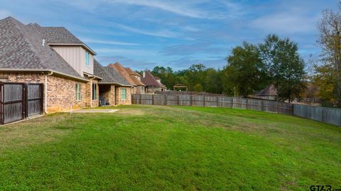
M 336 126 L 242 109 L 114 109 L 1 126 L 0 190 L 341 188 Z

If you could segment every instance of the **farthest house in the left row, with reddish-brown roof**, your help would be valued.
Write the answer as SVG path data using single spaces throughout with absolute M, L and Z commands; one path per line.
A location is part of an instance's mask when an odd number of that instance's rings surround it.
M 160 78 L 154 77 L 148 70 L 143 72 L 141 82 L 146 85 L 145 91 L 148 93 L 165 91 L 167 89 L 166 86 L 161 83 Z

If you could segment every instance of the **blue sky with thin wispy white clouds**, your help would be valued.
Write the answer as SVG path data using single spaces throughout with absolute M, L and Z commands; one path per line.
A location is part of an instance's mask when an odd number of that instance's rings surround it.
M 298 43 L 303 58 L 317 56 L 317 23 L 325 0 L 0 0 L 0 19 L 64 26 L 107 65 L 133 70 L 183 70 L 202 63 L 222 68 L 233 47 L 261 43 L 269 33 Z

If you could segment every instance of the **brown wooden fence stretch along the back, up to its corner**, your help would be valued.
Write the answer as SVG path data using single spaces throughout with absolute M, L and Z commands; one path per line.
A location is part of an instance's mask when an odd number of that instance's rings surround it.
M 161 95 L 161 94 L 132 94 L 133 104 L 148 105 L 180 105 L 199 107 L 230 107 L 239 109 L 254 109 L 257 111 L 269 111 L 279 114 L 292 114 L 291 104 L 272 102 L 261 99 L 245 99 L 237 97 L 218 97 L 202 95 Z

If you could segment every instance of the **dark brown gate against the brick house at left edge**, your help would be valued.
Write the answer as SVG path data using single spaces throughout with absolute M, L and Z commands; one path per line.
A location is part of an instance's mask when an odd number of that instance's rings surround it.
M 43 113 L 43 84 L 0 82 L 0 124 Z

